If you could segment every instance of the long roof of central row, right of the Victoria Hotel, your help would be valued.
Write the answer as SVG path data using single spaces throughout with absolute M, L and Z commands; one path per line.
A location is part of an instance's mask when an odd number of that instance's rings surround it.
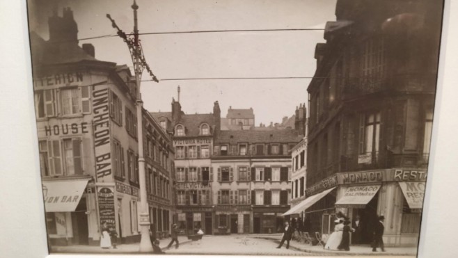
M 215 143 L 299 143 L 301 140 L 294 129 L 238 130 L 221 131 Z

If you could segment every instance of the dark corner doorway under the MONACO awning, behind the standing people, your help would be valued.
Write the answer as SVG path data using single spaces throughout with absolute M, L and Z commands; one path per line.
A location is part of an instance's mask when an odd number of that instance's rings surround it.
M 359 216 L 361 226 L 358 232 L 355 232 L 356 234 L 352 234 L 352 244 L 368 245 L 372 243 L 374 228 L 379 221 L 378 203 L 379 193 L 363 209 L 353 209 L 352 219 L 355 220 L 356 216 Z

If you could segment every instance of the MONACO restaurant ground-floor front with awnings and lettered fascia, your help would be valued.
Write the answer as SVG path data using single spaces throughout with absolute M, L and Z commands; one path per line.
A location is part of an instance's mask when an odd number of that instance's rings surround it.
M 370 244 L 384 216 L 386 246 L 418 244 L 426 172 L 409 169 L 347 172 L 308 188 L 306 200 L 283 214 L 305 213 L 304 225 L 315 236 L 331 234 L 335 214 L 352 220 L 352 244 Z

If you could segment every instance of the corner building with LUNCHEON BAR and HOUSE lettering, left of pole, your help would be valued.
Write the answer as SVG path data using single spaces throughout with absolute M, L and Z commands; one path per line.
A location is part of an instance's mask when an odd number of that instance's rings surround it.
M 49 244 L 98 245 L 102 227 L 119 243 L 137 242 L 138 89 L 126 65 L 98 61 L 90 44 L 79 47 L 77 32 L 64 9 L 49 17 L 49 40 L 31 33 Z

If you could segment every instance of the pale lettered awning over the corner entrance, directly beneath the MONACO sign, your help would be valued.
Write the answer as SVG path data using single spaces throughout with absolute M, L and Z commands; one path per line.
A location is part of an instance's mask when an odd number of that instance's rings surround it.
M 379 191 L 380 185 L 350 186 L 345 194 L 335 202 L 336 206 L 365 207 Z

